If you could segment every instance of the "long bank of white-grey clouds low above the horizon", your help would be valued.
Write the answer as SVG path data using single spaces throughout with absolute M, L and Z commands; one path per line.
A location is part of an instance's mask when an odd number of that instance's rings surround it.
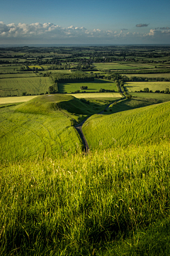
M 149 24 L 137 24 L 137 27 Z M 91 31 L 78 26 L 64 28 L 54 23 L 15 23 L 0 21 L 1 43 L 141 43 L 142 38 L 157 39 L 157 43 L 170 42 L 169 27 L 150 29 L 148 33 L 130 32 L 127 28 L 120 31 L 94 28 Z M 166 41 L 164 41 L 166 35 Z M 153 41 L 154 41 L 153 40 Z M 151 41 L 150 41 L 151 42 Z M 145 43 L 145 42 L 144 42 Z M 154 41 L 154 43 L 156 43 Z

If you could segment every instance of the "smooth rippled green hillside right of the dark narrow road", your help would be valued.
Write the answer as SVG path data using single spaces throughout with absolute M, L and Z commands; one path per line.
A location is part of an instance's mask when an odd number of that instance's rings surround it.
M 170 137 L 170 102 L 115 114 L 94 115 L 83 126 L 92 149 L 159 142 Z

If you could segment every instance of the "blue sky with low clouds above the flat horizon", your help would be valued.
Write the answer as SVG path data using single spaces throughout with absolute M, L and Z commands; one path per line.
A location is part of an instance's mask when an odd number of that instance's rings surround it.
M 2 44 L 170 44 L 170 0 L 0 0 Z

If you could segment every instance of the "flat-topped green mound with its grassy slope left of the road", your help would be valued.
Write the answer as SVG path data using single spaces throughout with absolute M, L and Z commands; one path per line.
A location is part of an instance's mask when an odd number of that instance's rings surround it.
M 0 160 L 54 159 L 64 152 L 81 151 L 73 125 L 111 102 L 113 99 L 82 102 L 71 95 L 56 94 L 37 96 L 13 107 L 7 102 L 0 105 Z

